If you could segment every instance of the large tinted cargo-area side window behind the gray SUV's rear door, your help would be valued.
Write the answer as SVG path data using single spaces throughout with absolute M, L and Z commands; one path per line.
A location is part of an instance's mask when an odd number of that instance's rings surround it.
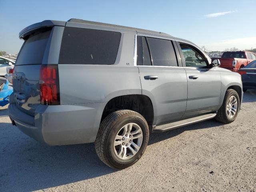
M 65 27 L 59 64 L 114 64 L 121 33 Z

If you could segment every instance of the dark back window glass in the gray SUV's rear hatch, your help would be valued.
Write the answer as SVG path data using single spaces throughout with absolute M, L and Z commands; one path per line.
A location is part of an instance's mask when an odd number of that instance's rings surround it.
M 50 33 L 51 30 L 47 30 L 25 40 L 15 65 L 42 64 Z

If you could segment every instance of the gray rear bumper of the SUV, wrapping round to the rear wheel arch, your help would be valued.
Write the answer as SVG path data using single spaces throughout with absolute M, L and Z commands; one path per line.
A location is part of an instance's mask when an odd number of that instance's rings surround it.
M 35 116 L 30 116 L 11 103 L 8 111 L 12 123 L 26 135 L 48 145 L 68 145 L 95 141 L 101 108 L 104 103 L 39 105 Z

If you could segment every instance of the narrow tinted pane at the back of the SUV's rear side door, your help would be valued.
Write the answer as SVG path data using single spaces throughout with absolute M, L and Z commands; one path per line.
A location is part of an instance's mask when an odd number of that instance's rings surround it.
M 148 44 L 142 36 L 137 37 L 137 65 L 151 65 Z

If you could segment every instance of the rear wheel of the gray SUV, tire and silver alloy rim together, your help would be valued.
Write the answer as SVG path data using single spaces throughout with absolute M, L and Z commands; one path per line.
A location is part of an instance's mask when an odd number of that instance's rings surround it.
M 109 114 L 100 124 L 96 153 L 111 168 L 124 169 L 140 159 L 148 138 L 148 124 L 142 115 L 119 110 Z

